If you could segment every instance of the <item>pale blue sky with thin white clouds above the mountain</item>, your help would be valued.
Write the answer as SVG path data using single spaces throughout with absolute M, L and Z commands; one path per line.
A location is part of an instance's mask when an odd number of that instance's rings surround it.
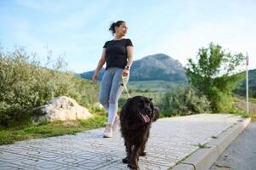
M 46 59 L 64 57 L 67 69 L 92 71 L 111 21 L 128 23 L 134 59 L 168 54 L 185 65 L 198 48 L 219 43 L 249 54 L 256 68 L 256 1 L 253 0 L 1 0 L 0 42 L 5 50 L 26 47 Z

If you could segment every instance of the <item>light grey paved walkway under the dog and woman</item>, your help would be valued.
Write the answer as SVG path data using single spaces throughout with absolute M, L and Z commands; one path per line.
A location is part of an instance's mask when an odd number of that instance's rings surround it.
M 234 125 L 238 116 L 202 114 L 159 119 L 152 124 L 140 169 L 168 169 Z M 102 138 L 103 128 L 0 146 L 0 169 L 128 169 L 120 132 Z

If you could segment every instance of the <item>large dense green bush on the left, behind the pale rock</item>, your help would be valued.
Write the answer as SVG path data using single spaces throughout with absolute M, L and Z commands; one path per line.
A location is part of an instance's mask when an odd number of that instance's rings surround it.
M 97 100 L 97 90 L 92 83 L 64 71 L 65 61 L 57 59 L 49 68 L 37 61 L 36 54 L 26 54 L 25 48 L 3 52 L 0 48 L 0 126 L 9 126 L 49 99 L 70 96 L 80 105 L 91 105 Z

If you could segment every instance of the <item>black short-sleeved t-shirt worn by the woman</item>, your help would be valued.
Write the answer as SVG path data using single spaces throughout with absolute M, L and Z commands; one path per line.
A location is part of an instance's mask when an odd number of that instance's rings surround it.
M 105 48 L 106 54 L 106 67 L 107 70 L 110 67 L 117 67 L 124 69 L 127 65 L 127 46 L 133 46 L 130 39 L 122 38 L 121 40 L 111 40 L 105 42 L 103 48 Z

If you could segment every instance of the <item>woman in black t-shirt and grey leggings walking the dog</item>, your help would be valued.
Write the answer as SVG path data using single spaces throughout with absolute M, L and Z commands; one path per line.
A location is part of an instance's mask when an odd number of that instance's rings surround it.
M 100 104 L 108 113 L 108 122 L 103 137 L 111 138 L 117 129 L 119 116 L 117 115 L 118 99 L 122 94 L 122 76 L 126 83 L 133 63 L 133 43 L 128 38 L 123 38 L 128 31 L 125 21 L 118 20 L 111 24 L 109 29 L 114 39 L 105 42 L 100 61 L 95 70 L 93 81 L 97 82 L 100 69 L 106 62 L 105 73 L 100 83 Z

